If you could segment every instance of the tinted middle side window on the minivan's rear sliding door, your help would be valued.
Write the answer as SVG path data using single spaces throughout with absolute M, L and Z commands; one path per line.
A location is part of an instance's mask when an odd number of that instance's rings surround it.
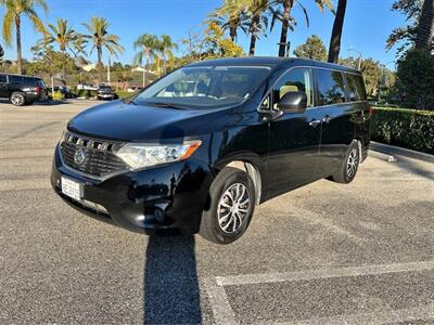
M 316 69 L 319 106 L 345 102 L 344 79 L 340 72 Z

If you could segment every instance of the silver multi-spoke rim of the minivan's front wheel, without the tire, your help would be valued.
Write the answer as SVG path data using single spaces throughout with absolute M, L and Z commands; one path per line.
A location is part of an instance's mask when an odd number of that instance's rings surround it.
M 225 191 L 218 204 L 218 224 L 227 234 L 233 234 L 243 225 L 250 208 L 247 187 L 234 183 Z

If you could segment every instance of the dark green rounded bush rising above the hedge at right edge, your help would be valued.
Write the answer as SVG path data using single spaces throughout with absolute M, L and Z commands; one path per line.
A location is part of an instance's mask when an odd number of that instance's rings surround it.
M 418 109 L 434 109 L 434 55 L 410 50 L 398 60 L 397 88 L 403 104 Z

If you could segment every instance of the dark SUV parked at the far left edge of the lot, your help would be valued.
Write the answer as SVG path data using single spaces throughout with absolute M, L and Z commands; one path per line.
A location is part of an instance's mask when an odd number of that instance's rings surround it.
M 47 87 L 41 78 L 0 74 L 0 98 L 15 106 L 31 105 L 47 99 Z

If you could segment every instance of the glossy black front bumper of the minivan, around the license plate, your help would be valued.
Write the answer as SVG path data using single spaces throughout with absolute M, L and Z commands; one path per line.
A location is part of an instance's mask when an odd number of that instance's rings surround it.
M 82 200 L 62 193 L 62 176 L 84 184 Z M 64 164 L 59 145 L 51 171 L 53 190 L 75 209 L 144 233 L 168 230 L 196 233 L 202 211 L 207 208 L 212 179 L 207 165 L 194 159 L 90 178 Z

